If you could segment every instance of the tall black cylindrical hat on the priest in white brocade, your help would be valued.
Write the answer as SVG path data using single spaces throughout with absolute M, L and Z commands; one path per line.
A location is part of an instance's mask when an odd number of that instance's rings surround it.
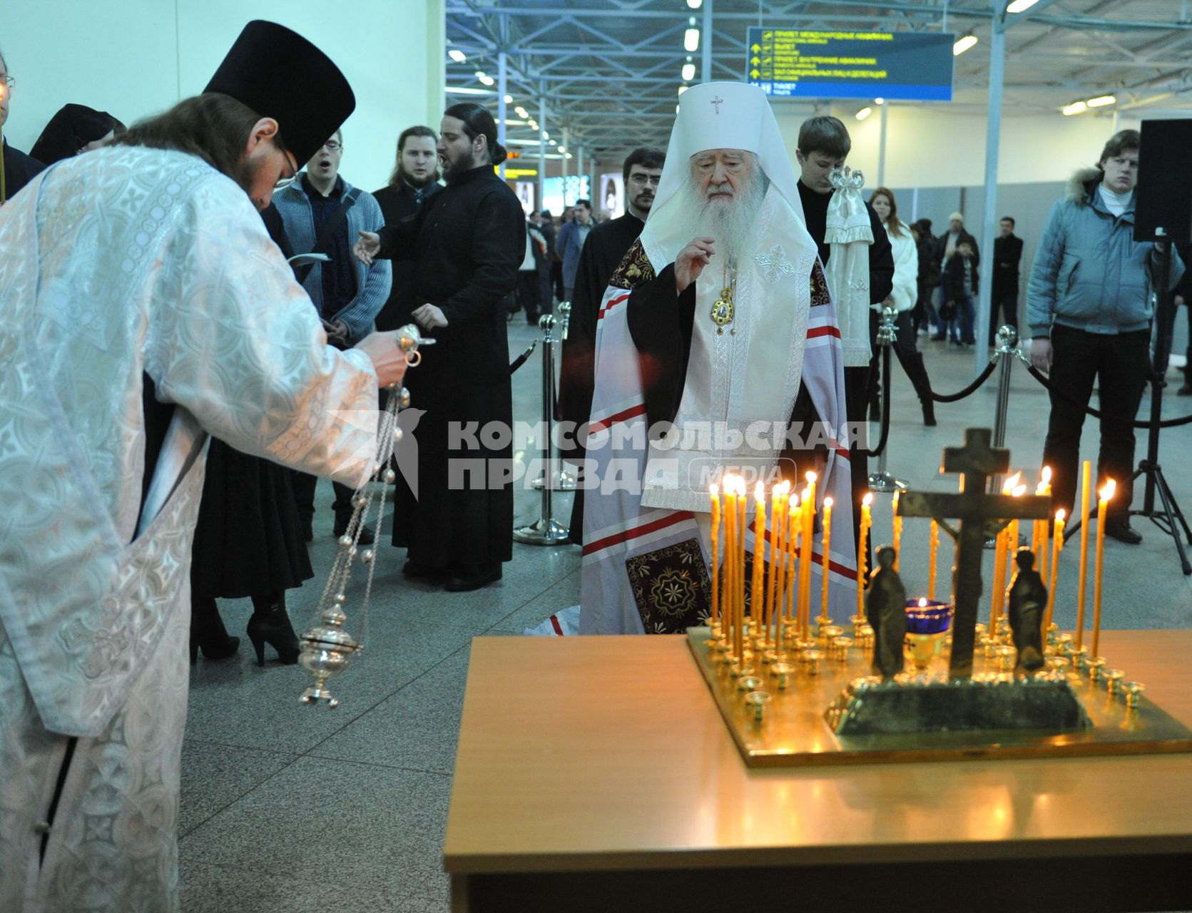
M 278 122 L 298 166 L 325 143 L 356 106 L 331 58 L 284 25 L 244 26 L 204 92 L 221 92 Z

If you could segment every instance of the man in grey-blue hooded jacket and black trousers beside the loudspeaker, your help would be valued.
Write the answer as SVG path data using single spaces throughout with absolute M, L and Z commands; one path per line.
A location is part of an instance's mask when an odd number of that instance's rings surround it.
M 1138 149 L 1138 131 L 1122 130 L 1105 144 L 1097 168 L 1073 175 L 1048 216 L 1026 288 L 1031 362 L 1050 372 L 1056 390 L 1043 446 L 1055 507 L 1072 515 L 1085 423 L 1079 404 L 1088 403 L 1095 381 L 1104 414 L 1098 486 L 1112 478 L 1118 492 L 1105 534 L 1131 545 L 1142 536 L 1130 526 L 1130 423 L 1150 372 L 1151 275 L 1159 275 L 1155 246 L 1134 241 Z M 1173 286 L 1182 272 L 1173 254 Z

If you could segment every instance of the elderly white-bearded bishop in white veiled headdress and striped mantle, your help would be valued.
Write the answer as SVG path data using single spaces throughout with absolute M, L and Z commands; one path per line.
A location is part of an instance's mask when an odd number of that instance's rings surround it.
M 713 82 L 679 98 L 650 219 L 601 303 L 594 371 L 581 633 L 700 623 L 708 485 L 724 472 L 769 485 L 814 470 L 818 503 L 848 502 L 839 329 L 759 88 Z M 850 611 L 848 522 L 831 542 L 832 604 Z

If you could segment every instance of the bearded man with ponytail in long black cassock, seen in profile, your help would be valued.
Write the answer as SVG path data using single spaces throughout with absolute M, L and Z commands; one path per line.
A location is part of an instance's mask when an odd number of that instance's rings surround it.
M 398 477 L 393 545 L 406 548 L 406 576 L 445 579 L 447 590 L 461 591 L 501 579 L 502 561 L 513 557 L 513 391 L 502 300 L 517 286 L 526 216 L 492 170 L 505 150 L 485 108 L 447 108 L 437 153 L 447 186 L 412 222 L 361 231 L 354 250 L 366 263 L 414 260 L 411 293 L 395 319 L 414 319 L 439 344 L 428 349 L 418 379 L 415 372 L 406 379 L 426 414 L 414 431 L 417 478 Z M 477 431 L 490 422 L 510 434 L 485 445 Z M 473 472 L 478 466 L 483 473 Z

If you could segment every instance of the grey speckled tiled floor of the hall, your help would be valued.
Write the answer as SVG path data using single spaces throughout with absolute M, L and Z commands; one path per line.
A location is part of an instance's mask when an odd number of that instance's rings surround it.
M 510 324 L 510 330 L 514 354 L 536 334 L 522 323 Z M 952 392 L 973 377 L 971 350 L 930 342 L 923 348 L 937 391 Z M 535 356 L 514 375 L 517 418 L 534 421 L 540 415 L 539 391 Z M 937 406 L 939 426 L 924 428 L 911 386 L 895 367 L 889 468 L 912 486 L 952 490 L 955 479 L 938 473 L 940 449 L 958 443 L 966 427 L 991 426 L 994 400 L 991 381 L 960 403 Z M 1048 403 L 1020 366 L 1013 372 L 1010 402 L 1007 446 L 1013 465 L 1033 480 Z M 1144 400 L 1140 415 L 1147 410 Z M 1165 412 L 1192 412 L 1192 399 L 1171 396 Z M 1084 455 L 1095 460 L 1095 446 L 1091 423 Z M 1141 439 L 1140 456 L 1144 447 Z M 1184 508 L 1192 510 L 1190 453 L 1192 427 L 1163 431 L 1161 458 L 1168 479 Z M 330 499 L 329 486 L 321 487 L 311 549 L 317 577 L 291 592 L 296 626 L 313 610 L 335 553 Z M 565 521 L 570 496 L 559 501 L 555 515 Z M 1141 501 L 1140 485 L 1136 504 Z M 538 492 L 519 492 L 517 522 L 535 518 L 539 503 Z M 1180 574 L 1171 539 L 1148 521 L 1134 522 L 1144 535 L 1141 546 L 1106 546 L 1106 626 L 1192 626 L 1192 579 Z M 874 523 L 877 538 L 884 538 L 888 497 L 879 497 Z M 906 523 L 901 564 L 908 580 L 926 577 L 925 523 Z M 1075 619 L 1074 602 L 1064 594 L 1074 586 L 1076 551 L 1073 541 L 1061 561 L 1061 626 Z M 501 583 L 472 594 L 446 594 L 411 582 L 401 574 L 402 560 L 396 549 L 379 547 L 368 651 L 336 683 L 342 698 L 336 710 L 299 706 L 305 673 L 275 662 L 259 669 L 247 641 L 234 659 L 200 658 L 191 679 L 182 747 L 185 911 L 447 909 L 440 851 L 471 639 L 521 634 L 577 603 L 579 554 L 573 546 L 515 545 Z M 247 601 L 223 603 L 235 633 L 243 629 L 249 611 Z

